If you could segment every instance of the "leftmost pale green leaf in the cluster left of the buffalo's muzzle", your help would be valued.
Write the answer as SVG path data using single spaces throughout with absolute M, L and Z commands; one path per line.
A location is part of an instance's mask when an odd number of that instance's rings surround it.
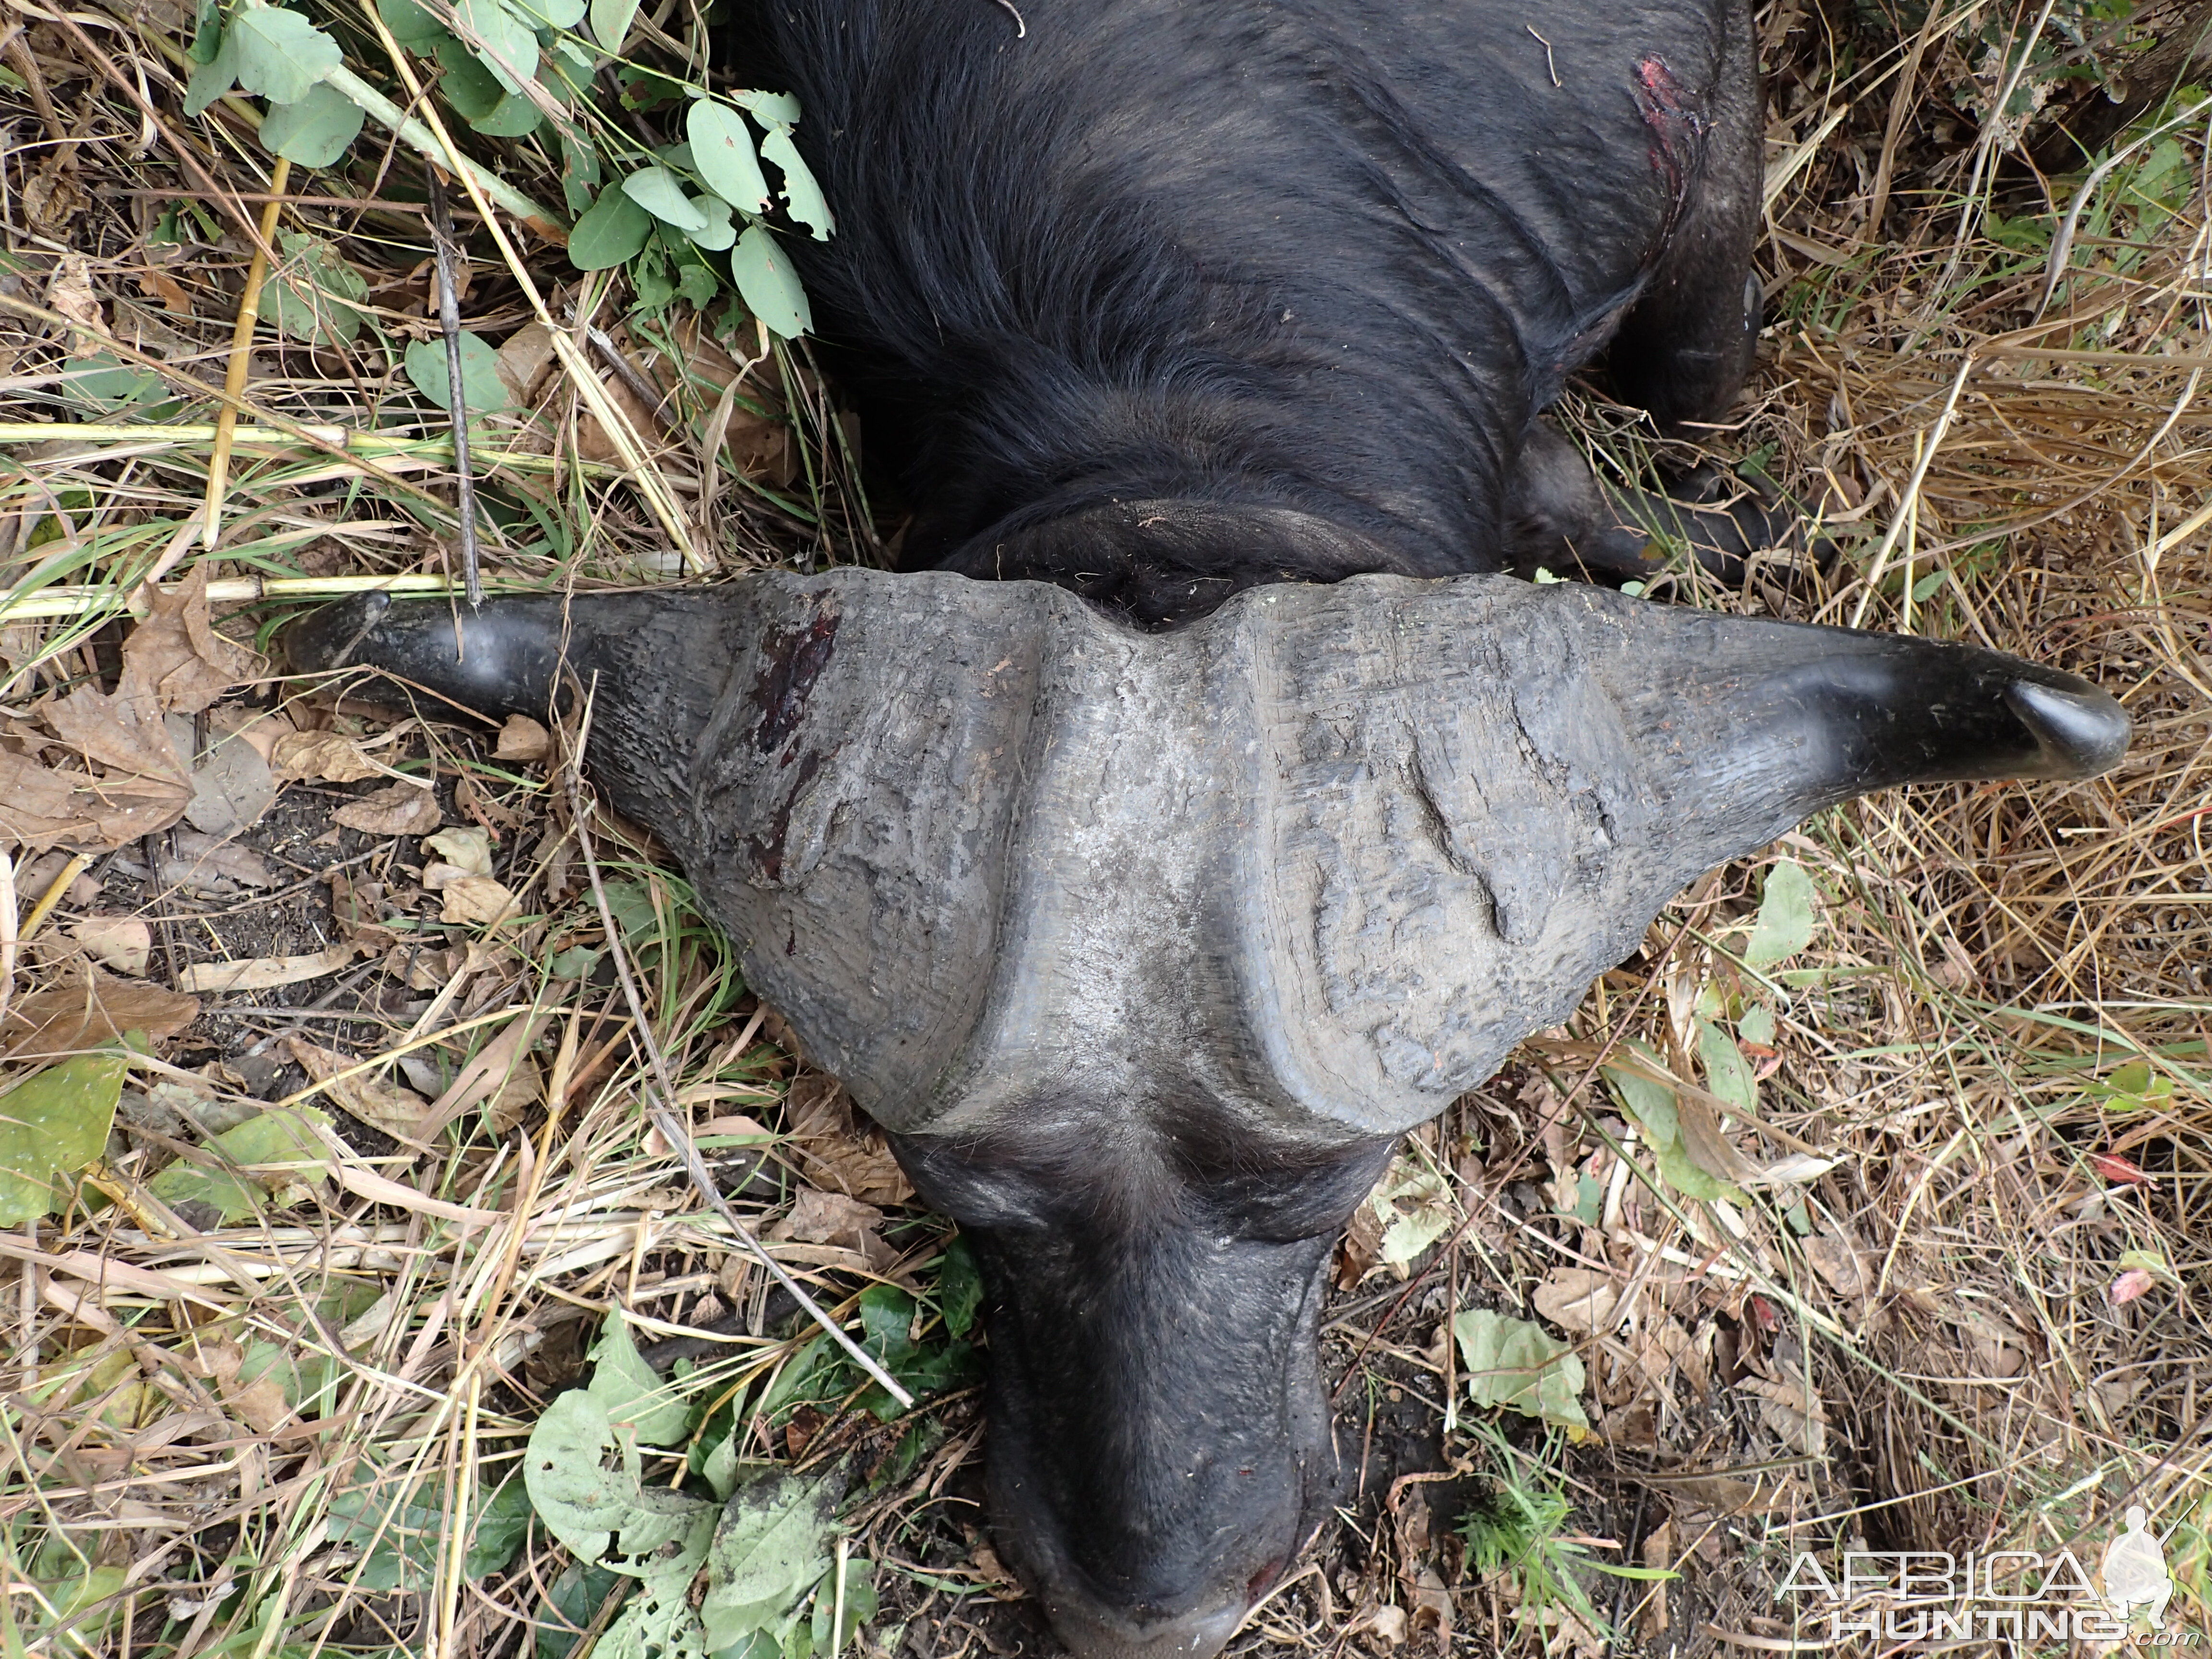
M 606 1453 L 617 1449 L 622 1467 L 608 1469 Z M 599 1405 L 584 1389 L 568 1389 L 538 1418 L 529 1451 L 522 1458 L 531 1506 L 577 1559 L 606 1559 L 617 1573 L 646 1577 L 670 1571 L 684 1557 L 699 1566 L 714 1526 L 714 1506 L 666 1486 L 646 1486 L 637 1462 L 637 1442 L 615 1431 Z M 666 1551 L 675 1544 L 675 1551 Z

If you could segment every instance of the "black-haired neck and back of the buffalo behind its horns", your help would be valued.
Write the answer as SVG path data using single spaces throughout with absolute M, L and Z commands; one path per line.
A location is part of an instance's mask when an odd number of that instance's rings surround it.
M 1250 582 L 1502 568 L 1531 420 L 1703 168 L 1679 88 L 1714 82 L 1717 7 L 1022 20 L 768 0 L 728 38 L 745 84 L 799 93 L 838 226 L 787 246 L 916 507 L 905 564 L 1146 626 Z

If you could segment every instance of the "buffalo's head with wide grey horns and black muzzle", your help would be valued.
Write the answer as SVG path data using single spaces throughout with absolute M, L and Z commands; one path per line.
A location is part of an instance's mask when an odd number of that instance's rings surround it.
M 973 1237 L 995 1520 L 1086 1659 L 1206 1659 L 1285 1568 L 1336 1491 L 1336 1230 L 1670 894 L 1851 794 L 2128 741 L 1986 650 L 1509 577 L 1168 635 L 949 573 L 367 599 L 294 657 L 487 712 L 595 686 L 613 803 Z

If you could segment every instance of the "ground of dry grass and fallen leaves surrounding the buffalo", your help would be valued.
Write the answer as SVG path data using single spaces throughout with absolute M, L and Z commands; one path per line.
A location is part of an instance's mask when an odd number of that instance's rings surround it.
M 239 51 L 281 75 L 257 31 L 290 24 L 265 11 Z M 513 15 L 453 20 L 489 46 Z M 2128 1504 L 2168 1540 L 2174 1608 L 2205 1617 L 2203 122 L 2170 119 L 2194 93 L 2130 106 L 2088 188 L 2055 135 L 2172 18 L 1761 18 L 1772 325 L 1756 400 L 1708 451 L 1818 507 L 1838 562 L 1825 586 L 1677 597 L 2057 661 L 2128 699 L 2137 750 L 2093 785 L 1863 803 L 1717 872 L 1411 1137 L 1325 1332 L 1356 1495 L 1239 1652 L 1781 1652 L 1827 1639 L 1774 1597 L 1796 1551 L 2093 1559 Z M 695 15 L 591 24 L 635 29 L 633 64 L 703 62 Z M 0 325 L 0 790 L 15 823 L 95 847 L 11 865 L 15 1639 L 1051 1650 L 980 1526 L 973 1263 L 779 1044 L 681 880 L 599 823 L 719 1183 L 918 1411 L 796 1316 L 644 1126 L 557 785 L 573 734 L 248 661 L 301 599 L 453 568 L 411 153 L 365 164 L 345 108 L 305 95 L 195 126 L 192 20 L 159 7 L 18 7 L 0 35 L 0 292 L 80 327 Z M 440 93 L 462 115 L 469 95 L 458 71 Z M 675 135 L 681 106 L 641 102 L 630 137 L 595 139 L 611 157 Z M 478 164 L 582 206 L 575 153 L 498 135 L 524 119 L 513 88 L 469 108 Z M 759 212 L 732 119 L 692 102 L 670 166 Z M 263 142 L 312 177 L 281 186 L 248 394 L 374 429 L 374 471 L 250 418 L 206 555 L 179 533 L 215 407 L 131 352 L 221 378 L 252 239 L 208 186 L 274 192 Z M 803 347 L 730 310 L 743 268 L 699 263 L 730 221 L 668 179 L 659 223 L 708 226 L 681 246 L 617 188 L 593 208 L 613 241 L 580 252 L 606 274 L 531 252 L 586 358 L 456 215 L 495 584 L 661 580 L 686 568 L 670 509 L 723 573 L 896 535 Z M 1566 420 L 1624 473 L 1694 460 L 1590 392 Z M 170 580 L 208 586 L 124 622 L 173 546 Z

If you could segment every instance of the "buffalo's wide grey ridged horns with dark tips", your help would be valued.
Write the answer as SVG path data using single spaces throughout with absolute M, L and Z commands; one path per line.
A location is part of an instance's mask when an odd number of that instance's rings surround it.
M 487 712 L 597 677 L 586 765 L 894 1133 L 1084 1084 L 1389 1135 L 1701 872 L 1907 781 L 2110 768 L 2119 703 L 1969 646 L 1509 577 L 1263 586 L 1137 635 L 1055 586 L 757 575 L 321 613 L 303 666 Z

